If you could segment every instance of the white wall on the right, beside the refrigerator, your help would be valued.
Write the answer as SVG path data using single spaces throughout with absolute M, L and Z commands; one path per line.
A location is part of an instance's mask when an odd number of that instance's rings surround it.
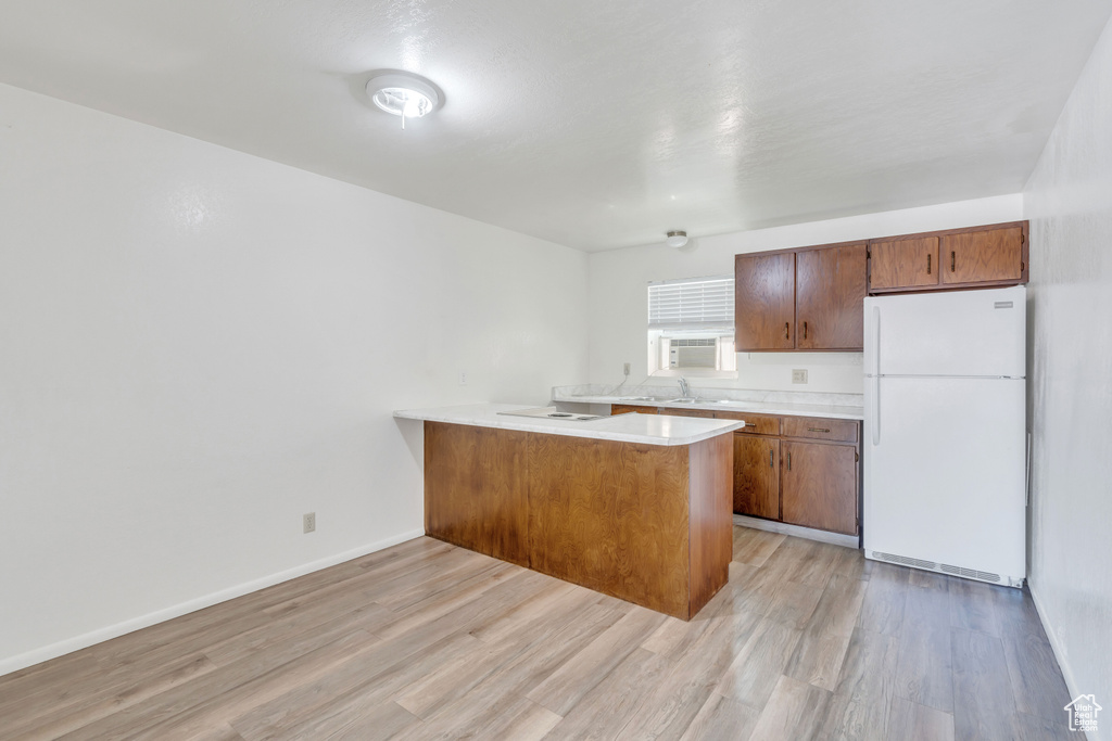
M 1112 739 L 1112 24 L 1024 190 L 1031 219 L 1031 592 Z M 1090 738 L 1096 738 L 1090 735 Z

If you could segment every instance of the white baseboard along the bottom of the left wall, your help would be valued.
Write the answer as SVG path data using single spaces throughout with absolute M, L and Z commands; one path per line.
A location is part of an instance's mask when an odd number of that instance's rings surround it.
M 57 659 L 58 657 L 66 655 L 67 653 L 72 653 L 73 651 L 80 651 L 81 649 L 87 649 L 90 645 L 96 645 L 97 643 L 102 643 L 105 641 L 118 638 L 126 633 L 131 633 L 143 628 L 149 628 L 160 622 L 167 620 L 172 620 L 173 618 L 180 618 L 183 614 L 190 612 L 196 612 L 197 610 L 203 610 L 205 608 L 212 607 L 214 604 L 219 604 L 220 602 L 227 602 L 228 600 L 234 600 L 237 597 L 242 597 L 244 594 L 250 594 L 251 592 L 257 592 L 260 589 L 266 589 L 267 587 L 274 587 L 275 584 L 280 584 L 284 581 L 289 581 L 290 579 L 297 579 L 298 577 L 304 577 L 307 573 L 312 573 L 314 571 L 320 571 L 321 569 L 327 569 L 334 567 L 337 563 L 344 563 L 345 561 L 350 561 L 351 559 L 357 559 L 368 553 L 374 553 L 375 551 L 380 551 L 391 545 L 397 545 L 398 543 L 404 543 L 407 540 L 413 540 L 414 538 L 419 538 L 425 534 L 425 529 L 419 530 L 408 530 L 389 538 L 384 538 L 383 540 L 369 543 L 367 545 L 361 545 L 359 548 L 353 549 L 350 551 L 345 551 L 342 553 L 336 553 L 335 555 L 329 555 L 317 561 L 310 561 L 309 563 L 302 563 L 300 565 L 294 567 L 292 569 L 287 569 L 285 571 L 279 571 L 278 573 L 272 573 L 261 579 L 255 579 L 242 584 L 237 584 L 235 587 L 229 587 L 228 589 L 221 589 L 218 592 L 212 592 L 197 599 L 188 600 L 186 602 L 180 602 L 169 608 L 162 610 L 156 610 L 155 612 L 149 612 L 145 615 L 138 618 L 132 618 L 131 620 L 125 620 L 118 622 L 113 625 L 107 625 L 105 628 L 99 628 L 88 633 L 81 635 L 76 635 L 73 638 L 68 638 L 63 641 L 58 641 L 57 643 L 51 643 L 39 649 L 33 649 L 24 653 L 10 657 L 8 659 L 0 660 L 0 677 L 4 674 L 10 674 L 11 672 L 19 671 L 20 669 L 27 669 L 28 667 L 33 667 L 34 664 L 42 663 L 43 661 L 49 661 L 51 659 Z

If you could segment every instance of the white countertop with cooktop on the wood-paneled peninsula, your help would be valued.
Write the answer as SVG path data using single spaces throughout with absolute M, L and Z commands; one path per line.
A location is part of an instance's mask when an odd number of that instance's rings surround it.
M 661 414 L 618 414 L 617 417 L 604 417 L 580 422 L 507 417 L 498 413 L 535 407 L 536 404 L 467 404 L 465 407 L 403 409 L 394 412 L 394 415 L 400 419 L 424 420 L 426 422 L 492 427 L 500 430 L 565 434 L 572 438 L 639 442 L 649 445 L 689 445 L 693 442 L 714 438 L 725 432 L 733 432 L 745 424 L 741 420 L 713 420 Z

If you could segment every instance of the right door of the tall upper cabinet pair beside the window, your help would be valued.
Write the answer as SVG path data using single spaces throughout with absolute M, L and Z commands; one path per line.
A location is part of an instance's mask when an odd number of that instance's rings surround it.
M 797 349 L 865 349 L 866 253 L 864 242 L 796 252 Z

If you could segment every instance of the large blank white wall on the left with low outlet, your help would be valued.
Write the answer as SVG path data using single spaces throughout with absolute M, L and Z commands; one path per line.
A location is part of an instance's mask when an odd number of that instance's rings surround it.
M 6 86 L 0 162 L 0 673 L 418 534 L 393 409 L 586 381 L 582 252 Z

